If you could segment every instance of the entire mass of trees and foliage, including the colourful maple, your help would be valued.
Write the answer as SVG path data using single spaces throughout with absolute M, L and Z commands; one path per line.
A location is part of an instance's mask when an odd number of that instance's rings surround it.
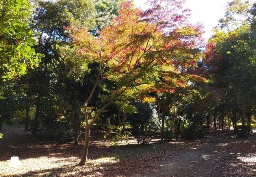
M 234 0 L 204 42 L 178 0 L 0 2 L 0 131 L 138 144 L 256 129 L 256 4 Z M 3 135 L 4 137 L 5 135 Z

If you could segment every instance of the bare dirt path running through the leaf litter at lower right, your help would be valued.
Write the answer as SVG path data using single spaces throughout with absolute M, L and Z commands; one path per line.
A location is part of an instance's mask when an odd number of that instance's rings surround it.
M 256 136 L 237 139 L 232 132 L 210 133 L 197 145 L 198 150 L 188 151 L 162 162 L 153 171 L 136 177 L 223 177 L 256 176 Z

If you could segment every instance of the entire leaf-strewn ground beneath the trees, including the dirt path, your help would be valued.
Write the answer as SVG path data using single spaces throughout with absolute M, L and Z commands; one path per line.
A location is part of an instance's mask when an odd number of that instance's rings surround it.
M 0 140 L 0 176 L 256 176 L 256 134 L 238 139 L 230 130 L 210 131 L 200 140 L 174 140 L 148 146 L 137 145 L 135 139 L 110 146 L 109 141 L 91 133 L 86 166 L 78 164 L 83 144 L 59 144 L 31 138 L 19 126 L 3 127 Z M 21 165 L 9 167 L 12 156 Z

